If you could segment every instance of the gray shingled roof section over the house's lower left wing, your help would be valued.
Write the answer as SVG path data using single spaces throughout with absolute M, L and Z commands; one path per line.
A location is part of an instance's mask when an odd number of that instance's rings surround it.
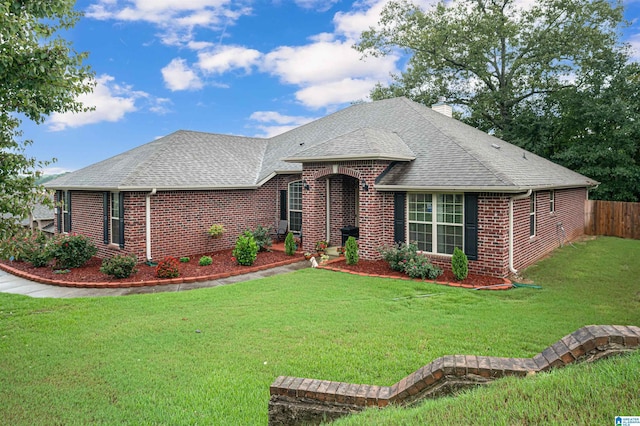
M 57 189 L 256 187 L 266 139 L 179 130 L 46 184 Z

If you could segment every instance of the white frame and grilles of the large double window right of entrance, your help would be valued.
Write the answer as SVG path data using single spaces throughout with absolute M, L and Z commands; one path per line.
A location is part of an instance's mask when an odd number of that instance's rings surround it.
M 439 235 L 439 227 L 440 226 L 453 226 L 456 228 L 460 229 L 460 235 L 459 237 L 461 238 L 461 244 L 458 245 L 454 245 L 455 247 L 460 248 L 461 250 L 464 251 L 464 194 L 462 193 L 409 193 L 407 194 L 407 235 L 409 236 L 409 240 L 412 241 L 411 239 L 411 225 L 412 224 L 422 224 L 422 225 L 430 225 L 431 226 L 431 250 L 424 250 L 424 248 L 428 248 L 428 243 L 426 244 L 426 247 L 423 247 L 422 249 L 419 247 L 420 251 L 426 252 L 426 253 L 432 253 L 432 254 L 438 254 L 438 255 L 443 255 L 443 256 L 451 256 L 453 254 L 453 250 L 451 250 L 451 253 L 447 253 L 446 251 L 439 251 L 438 250 L 438 246 L 439 246 L 439 241 L 438 241 L 438 235 Z M 416 214 L 422 214 L 424 213 L 426 214 L 431 214 L 431 221 L 429 220 L 417 220 L 417 219 L 411 219 L 412 214 L 414 213 L 413 210 L 411 210 L 411 204 L 414 202 L 412 200 L 413 197 L 416 197 L 417 195 L 425 195 L 425 196 L 430 196 L 431 197 L 431 201 L 428 201 L 425 199 L 424 203 L 428 204 L 431 203 L 431 212 L 425 211 L 425 212 L 421 212 L 421 211 L 416 211 Z M 441 201 L 441 198 L 445 198 L 447 196 L 454 196 L 454 200 L 453 203 L 445 203 L 444 200 Z M 460 202 L 456 202 L 457 200 L 455 198 L 460 197 L 459 201 Z M 444 210 L 444 206 L 447 204 L 452 204 L 453 206 L 459 205 L 459 211 L 453 211 L 453 212 L 445 212 L 445 211 L 440 211 L 440 210 Z M 455 210 L 455 208 L 454 208 Z M 442 220 L 442 217 L 444 215 L 447 216 L 454 216 L 454 217 L 459 217 L 460 221 L 459 222 L 448 222 L 448 221 L 444 221 Z

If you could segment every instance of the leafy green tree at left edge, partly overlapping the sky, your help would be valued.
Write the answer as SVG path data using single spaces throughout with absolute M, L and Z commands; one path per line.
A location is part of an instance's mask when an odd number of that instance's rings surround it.
M 93 88 L 83 65 L 61 33 L 80 18 L 74 0 L 0 0 L 0 238 L 6 237 L 42 198 L 35 181 L 45 162 L 28 157 L 23 119 L 38 124 L 53 112 L 80 112 L 76 99 Z

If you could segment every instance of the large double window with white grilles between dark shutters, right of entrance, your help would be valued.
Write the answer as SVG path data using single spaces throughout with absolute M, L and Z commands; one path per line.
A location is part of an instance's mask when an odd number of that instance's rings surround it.
M 408 198 L 409 241 L 430 253 L 464 249 L 463 194 L 409 194 Z

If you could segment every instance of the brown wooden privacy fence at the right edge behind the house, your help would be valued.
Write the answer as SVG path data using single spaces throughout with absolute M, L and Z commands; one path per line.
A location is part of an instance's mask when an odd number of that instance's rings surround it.
M 640 240 L 640 203 L 587 200 L 584 212 L 585 234 Z

